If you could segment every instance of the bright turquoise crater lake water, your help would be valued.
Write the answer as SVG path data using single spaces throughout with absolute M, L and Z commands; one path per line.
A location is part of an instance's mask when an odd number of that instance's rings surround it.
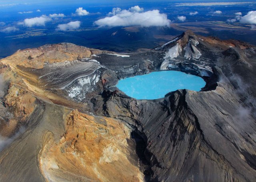
M 158 71 L 119 80 L 116 87 L 136 99 L 163 98 L 178 89 L 200 91 L 205 86 L 199 76 L 180 71 Z

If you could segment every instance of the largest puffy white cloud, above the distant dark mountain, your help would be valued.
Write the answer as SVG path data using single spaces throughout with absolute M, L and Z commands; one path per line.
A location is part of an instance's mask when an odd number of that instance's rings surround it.
M 134 8 L 136 7 L 136 8 Z M 169 26 L 171 21 L 167 19 L 166 14 L 160 14 L 159 10 L 147 12 L 138 12 L 142 10 L 139 6 L 134 6 L 129 10 L 121 10 L 113 8 L 106 18 L 102 18 L 94 22 L 98 26 L 132 26 L 140 25 L 142 27 L 150 26 Z M 134 11 L 136 9 L 136 11 Z

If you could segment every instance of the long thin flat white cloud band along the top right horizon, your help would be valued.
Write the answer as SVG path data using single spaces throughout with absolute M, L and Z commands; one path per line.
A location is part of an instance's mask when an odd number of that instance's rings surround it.
M 192 2 L 192 3 L 177 3 L 176 6 L 228 6 L 239 4 L 250 4 L 254 2 Z

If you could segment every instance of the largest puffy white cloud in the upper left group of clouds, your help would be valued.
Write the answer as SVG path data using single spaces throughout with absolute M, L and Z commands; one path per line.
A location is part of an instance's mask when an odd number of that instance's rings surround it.
M 24 25 L 25 27 L 45 26 L 45 23 L 50 22 L 51 20 L 50 17 L 42 15 L 35 18 L 26 18 L 22 23 L 18 24 Z

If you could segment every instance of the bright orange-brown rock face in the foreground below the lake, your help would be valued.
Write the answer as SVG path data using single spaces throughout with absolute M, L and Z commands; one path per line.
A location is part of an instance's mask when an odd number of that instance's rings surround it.
M 72 111 L 66 133 L 55 142 L 44 137 L 40 168 L 48 181 L 140 182 L 130 129 L 120 121 Z

